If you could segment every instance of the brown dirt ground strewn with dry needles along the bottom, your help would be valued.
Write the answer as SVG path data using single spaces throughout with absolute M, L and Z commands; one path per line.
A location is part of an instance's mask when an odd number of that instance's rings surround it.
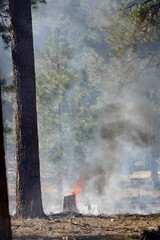
M 140 239 L 144 229 L 160 226 L 160 215 L 50 216 L 42 219 L 12 219 L 14 240 L 34 239 Z

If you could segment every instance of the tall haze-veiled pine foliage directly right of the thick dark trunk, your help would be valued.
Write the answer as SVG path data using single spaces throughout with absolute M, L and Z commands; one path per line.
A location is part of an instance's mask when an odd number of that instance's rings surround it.
M 40 134 L 48 142 L 49 158 L 58 165 L 66 158 L 69 144 L 65 141 L 65 132 L 69 124 L 67 96 L 76 79 L 76 71 L 70 66 L 73 54 L 73 47 L 56 28 L 36 68 Z

